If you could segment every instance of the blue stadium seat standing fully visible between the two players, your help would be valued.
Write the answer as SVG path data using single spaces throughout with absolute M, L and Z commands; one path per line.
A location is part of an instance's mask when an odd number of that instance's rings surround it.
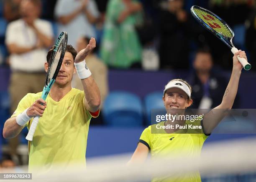
M 104 122 L 110 126 L 141 126 L 142 103 L 137 95 L 125 91 L 110 92 L 102 110 Z

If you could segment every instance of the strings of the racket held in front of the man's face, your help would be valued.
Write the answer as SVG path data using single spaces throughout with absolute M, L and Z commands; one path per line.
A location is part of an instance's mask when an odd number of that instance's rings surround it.
M 60 57 L 61 57 L 61 50 L 63 49 L 62 48 L 63 46 L 64 46 L 64 37 L 61 38 L 61 41 L 60 41 L 60 44 L 59 44 L 59 47 L 58 47 L 57 51 L 56 52 L 54 51 L 54 55 L 53 55 L 54 59 L 52 60 L 51 66 L 49 67 L 49 76 L 48 76 L 48 80 L 47 80 L 47 85 L 49 84 L 49 82 L 53 78 L 54 73 L 56 71 L 56 68 L 59 64 L 59 60 L 60 60 Z

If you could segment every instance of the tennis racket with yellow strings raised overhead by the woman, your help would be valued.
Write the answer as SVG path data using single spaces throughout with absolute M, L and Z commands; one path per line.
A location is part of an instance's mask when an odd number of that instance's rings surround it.
M 232 39 L 235 36 L 233 30 L 228 24 L 222 20 L 218 15 L 206 10 L 200 6 L 192 6 L 191 13 L 193 17 L 203 25 L 207 30 L 212 32 L 216 37 L 222 40 L 231 49 L 231 52 L 235 54 L 238 49 L 233 45 Z M 243 65 L 245 70 L 250 70 L 251 65 L 243 57 L 237 57 L 239 62 Z

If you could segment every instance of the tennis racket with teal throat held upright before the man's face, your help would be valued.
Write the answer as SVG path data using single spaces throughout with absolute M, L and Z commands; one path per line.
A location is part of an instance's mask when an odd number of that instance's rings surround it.
M 51 90 L 51 86 L 54 84 L 55 79 L 59 73 L 59 69 L 61 67 L 67 48 L 67 39 L 67 32 L 61 32 L 61 34 L 58 37 L 58 40 L 56 41 L 56 44 L 54 45 L 54 52 L 52 54 L 51 60 L 49 61 L 49 67 L 46 74 L 44 89 L 41 96 L 41 98 L 44 100 L 46 100 L 46 97 Z M 33 135 L 36 131 L 36 126 L 38 124 L 39 118 L 39 116 L 34 117 L 33 122 L 31 123 L 28 135 L 26 136 L 26 139 L 28 141 L 33 140 Z

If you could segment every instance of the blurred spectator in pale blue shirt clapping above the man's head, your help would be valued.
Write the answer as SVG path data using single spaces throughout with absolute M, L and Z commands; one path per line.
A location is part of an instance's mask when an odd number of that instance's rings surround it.
M 94 0 L 58 0 L 55 7 L 59 32 L 68 33 L 71 45 L 75 45 L 79 37 L 95 37 L 93 24 L 99 15 Z

